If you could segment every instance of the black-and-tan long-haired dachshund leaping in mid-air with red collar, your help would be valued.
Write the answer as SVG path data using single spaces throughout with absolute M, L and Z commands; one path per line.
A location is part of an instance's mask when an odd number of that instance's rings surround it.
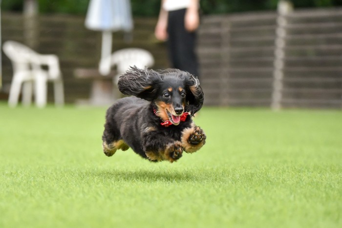
M 192 153 L 205 144 L 206 135 L 192 122 L 204 95 L 190 73 L 134 66 L 120 76 L 118 87 L 135 97 L 119 99 L 107 110 L 102 136 L 107 156 L 131 147 L 152 162 L 174 162 L 183 150 Z

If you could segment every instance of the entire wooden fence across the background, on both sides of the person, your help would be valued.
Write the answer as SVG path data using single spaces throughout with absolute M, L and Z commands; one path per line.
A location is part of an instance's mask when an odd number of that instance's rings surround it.
M 155 57 L 153 68 L 169 67 L 155 23 L 136 18 L 133 41 L 115 33 L 113 49 L 141 47 Z M 87 98 L 91 82 L 73 72 L 97 67 L 101 34 L 85 29 L 84 17 L 66 15 L 40 16 L 38 28 L 36 50 L 60 57 L 66 101 Z M 21 15 L 2 14 L 6 40 L 23 42 Z M 206 105 L 342 107 L 341 8 L 204 16 L 197 51 Z M 12 67 L 5 56 L 2 64 L 5 99 Z

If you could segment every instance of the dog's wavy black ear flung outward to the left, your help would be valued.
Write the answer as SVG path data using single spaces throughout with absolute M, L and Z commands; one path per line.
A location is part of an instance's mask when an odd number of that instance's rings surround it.
M 154 70 L 131 66 L 125 74 L 119 77 L 118 88 L 123 94 L 152 101 L 156 96 L 160 80 L 159 73 Z

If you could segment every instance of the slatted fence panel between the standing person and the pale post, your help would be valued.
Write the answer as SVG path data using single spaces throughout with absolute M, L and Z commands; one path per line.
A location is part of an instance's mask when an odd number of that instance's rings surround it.
M 206 102 L 271 104 L 275 13 L 203 19 L 198 52 Z

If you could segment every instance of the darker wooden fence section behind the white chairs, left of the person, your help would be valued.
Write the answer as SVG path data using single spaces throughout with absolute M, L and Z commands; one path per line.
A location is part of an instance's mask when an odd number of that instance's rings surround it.
M 24 41 L 23 16 L 19 14 L 2 14 L 2 41 Z M 53 15 L 39 16 L 36 51 L 42 54 L 56 54 L 60 58 L 65 86 L 65 100 L 74 103 L 86 99 L 90 93 L 90 80 L 75 78 L 76 68 L 97 68 L 101 56 L 101 33 L 85 28 L 85 18 L 80 16 Z M 124 34 L 113 35 L 113 51 L 126 47 L 141 47 L 150 51 L 155 58 L 154 67 L 169 66 L 166 46 L 153 39 L 156 19 L 135 19 L 132 41 L 126 42 Z M 2 54 L 3 88 L 2 99 L 7 98 L 12 78 L 12 66 L 9 59 Z M 52 101 L 49 88 L 48 100 Z

